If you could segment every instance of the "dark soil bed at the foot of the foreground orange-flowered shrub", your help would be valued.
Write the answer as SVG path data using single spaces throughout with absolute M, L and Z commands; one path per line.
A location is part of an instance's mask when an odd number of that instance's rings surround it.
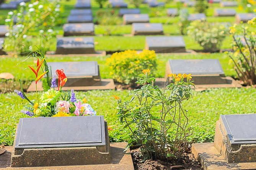
M 151 159 L 142 162 L 139 157 L 139 148 L 131 150 L 131 154 L 135 170 L 202 170 L 200 162 L 194 159 L 190 151 L 174 163 Z

